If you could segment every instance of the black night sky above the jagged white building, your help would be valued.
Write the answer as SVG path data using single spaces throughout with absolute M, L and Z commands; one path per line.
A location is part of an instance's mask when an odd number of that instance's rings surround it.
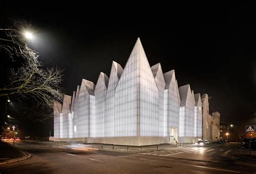
M 65 69 L 65 94 L 109 76 L 112 61 L 124 68 L 139 37 L 150 66 L 175 69 L 178 86 L 211 96 L 221 121 L 240 134 L 256 124 L 255 3 L 124 6 L 1 4 L 0 26 L 14 18 L 35 27 L 30 45 L 45 66 Z

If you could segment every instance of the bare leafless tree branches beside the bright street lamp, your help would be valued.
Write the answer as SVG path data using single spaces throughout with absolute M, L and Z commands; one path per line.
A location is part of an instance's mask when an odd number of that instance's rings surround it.
M 27 116 L 30 113 L 33 117 L 34 111 L 37 119 L 44 120 L 52 115 L 53 101 L 62 101 L 62 70 L 43 67 L 38 53 L 29 47 L 16 28 L 0 29 L 0 32 L 4 33 L 0 38 L 0 51 L 13 62 L 21 62 L 20 66 L 9 69 L 8 82 L 0 88 L 0 99 L 11 99 Z

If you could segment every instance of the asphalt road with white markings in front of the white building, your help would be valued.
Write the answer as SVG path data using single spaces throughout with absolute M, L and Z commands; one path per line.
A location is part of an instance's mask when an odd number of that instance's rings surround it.
M 255 173 L 255 162 L 229 156 L 237 145 L 102 151 L 83 146 L 17 143 L 33 157 L 0 165 L 0 173 Z

